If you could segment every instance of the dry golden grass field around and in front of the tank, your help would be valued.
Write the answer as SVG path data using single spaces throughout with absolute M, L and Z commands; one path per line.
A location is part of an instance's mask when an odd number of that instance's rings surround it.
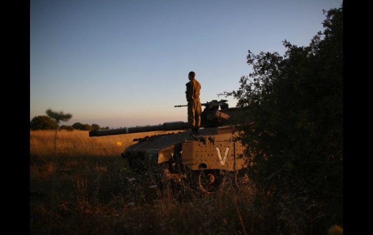
M 53 169 L 55 132 L 30 131 L 31 234 L 272 233 L 250 209 L 249 189 L 214 195 L 187 189 L 180 201 L 131 171 L 124 149 L 134 138 L 163 133 L 89 138 L 88 131 L 59 131 Z

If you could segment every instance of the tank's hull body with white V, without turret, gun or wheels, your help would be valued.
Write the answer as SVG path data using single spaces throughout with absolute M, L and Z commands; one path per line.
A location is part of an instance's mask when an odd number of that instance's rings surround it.
M 225 126 L 202 128 L 199 135 L 192 135 L 191 131 L 187 130 L 152 136 L 127 147 L 122 156 L 131 161 L 137 159 L 144 169 L 177 157 L 192 171 L 237 171 L 245 164 L 241 158 L 244 148 L 241 142 L 234 140 L 236 134 L 233 127 Z M 134 168 L 139 169 L 140 166 Z

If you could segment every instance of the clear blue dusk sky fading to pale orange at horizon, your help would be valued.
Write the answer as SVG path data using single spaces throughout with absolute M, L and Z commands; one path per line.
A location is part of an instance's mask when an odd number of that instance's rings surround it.
M 201 102 L 228 99 L 251 71 L 248 50 L 308 46 L 323 9 L 342 0 L 30 0 L 30 120 L 62 125 L 187 122 L 189 71 Z

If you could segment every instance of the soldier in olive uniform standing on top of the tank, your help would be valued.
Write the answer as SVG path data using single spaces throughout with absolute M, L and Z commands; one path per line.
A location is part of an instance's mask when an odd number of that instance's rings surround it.
M 187 101 L 188 101 L 188 123 L 190 129 L 195 134 L 198 134 L 198 129 L 201 125 L 201 101 L 200 101 L 200 90 L 201 84 L 196 80 L 196 73 L 191 71 L 188 74 L 190 80 L 186 86 Z

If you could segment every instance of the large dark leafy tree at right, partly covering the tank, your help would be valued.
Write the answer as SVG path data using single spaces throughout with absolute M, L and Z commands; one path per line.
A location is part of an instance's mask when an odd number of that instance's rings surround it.
M 323 26 L 308 47 L 285 40 L 283 56 L 249 50 L 253 72 L 223 93 L 249 113 L 239 139 L 260 202 L 271 203 L 261 209 L 295 234 L 343 223 L 343 7 L 329 10 Z

